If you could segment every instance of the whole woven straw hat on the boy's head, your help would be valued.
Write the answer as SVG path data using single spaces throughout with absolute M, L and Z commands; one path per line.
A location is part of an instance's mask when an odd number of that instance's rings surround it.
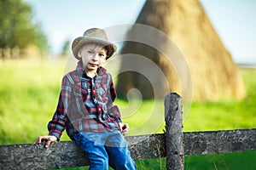
M 79 49 L 82 48 L 84 44 L 88 42 L 100 43 L 105 47 L 107 47 L 108 48 L 107 59 L 111 57 L 113 53 L 116 51 L 116 46 L 113 43 L 108 42 L 108 37 L 104 30 L 100 28 L 91 28 L 84 32 L 83 37 L 77 37 L 76 39 L 74 39 L 72 43 L 72 51 L 76 59 L 79 59 L 79 56 L 78 56 Z

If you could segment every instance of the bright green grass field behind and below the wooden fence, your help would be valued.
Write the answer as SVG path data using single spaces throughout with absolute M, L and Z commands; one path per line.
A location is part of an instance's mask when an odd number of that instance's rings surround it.
M 0 144 L 34 143 L 39 135 L 48 133 L 46 126 L 55 111 L 65 65 L 65 61 L 0 61 Z M 256 127 L 256 70 L 240 69 L 240 73 L 247 97 L 241 101 L 192 103 L 184 131 Z M 128 104 L 118 99 L 116 104 L 125 112 L 128 105 L 137 102 Z M 130 135 L 140 134 L 136 129 L 142 126 L 152 129 L 152 124 L 144 120 L 152 119 L 154 107 L 163 113 L 163 105 L 163 101 L 143 101 L 133 115 L 125 115 L 123 121 L 130 124 Z M 162 133 L 163 129 L 161 123 L 152 130 Z M 66 133 L 61 140 L 69 140 Z M 137 165 L 138 169 L 165 169 L 165 159 L 137 161 Z M 256 169 L 256 151 L 187 156 L 185 169 Z

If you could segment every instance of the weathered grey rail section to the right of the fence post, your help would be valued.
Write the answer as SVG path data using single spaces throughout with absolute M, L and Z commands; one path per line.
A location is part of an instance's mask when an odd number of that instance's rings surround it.
M 192 132 L 183 136 L 186 156 L 256 150 L 256 128 Z

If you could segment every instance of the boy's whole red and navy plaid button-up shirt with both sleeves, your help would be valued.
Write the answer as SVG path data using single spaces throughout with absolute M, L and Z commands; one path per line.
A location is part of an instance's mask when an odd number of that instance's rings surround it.
M 71 139 L 73 133 L 82 131 L 102 133 L 103 126 L 110 131 L 120 130 L 121 118 L 114 99 L 111 75 L 100 67 L 96 77 L 87 77 L 79 61 L 77 69 L 62 79 L 58 105 L 48 124 L 49 135 L 60 139 L 65 128 Z

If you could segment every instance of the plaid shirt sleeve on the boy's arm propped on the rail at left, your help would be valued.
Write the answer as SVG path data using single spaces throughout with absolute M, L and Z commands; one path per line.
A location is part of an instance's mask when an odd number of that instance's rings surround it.
M 52 120 L 48 123 L 49 135 L 54 135 L 58 140 L 61 138 L 62 132 L 65 130 L 67 123 L 67 106 L 69 105 L 69 97 L 71 94 L 71 84 L 67 77 L 63 77 L 61 84 L 61 94 L 59 96 L 58 105 Z

